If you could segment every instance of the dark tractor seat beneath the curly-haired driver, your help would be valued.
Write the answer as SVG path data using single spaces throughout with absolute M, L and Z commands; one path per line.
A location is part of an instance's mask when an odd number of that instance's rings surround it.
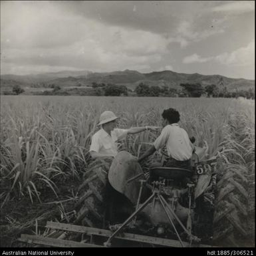
M 192 174 L 191 170 L 176 167 L 150 168 L 150 175 L 164 179 L 182 180 L 183 178 L 190 178 Z

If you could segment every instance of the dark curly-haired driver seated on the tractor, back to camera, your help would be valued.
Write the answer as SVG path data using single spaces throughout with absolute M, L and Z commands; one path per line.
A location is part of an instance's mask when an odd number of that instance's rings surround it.
M 166 147 L 168 158 L 164 163 L 154 163 L 153 166 L 168 166 L 190 169 L 190 158 L 193 153 L 193 144 L 190 141 L 188 133 L 180 128 L 180 113 L 169 108 L 162 112 L 162 124 L 164 126 L 160 136 L 154 144 L 138 158 L 138 161 L 144 160 L 156 150 Z M 152 167 L 153 167 L 152 166 Z

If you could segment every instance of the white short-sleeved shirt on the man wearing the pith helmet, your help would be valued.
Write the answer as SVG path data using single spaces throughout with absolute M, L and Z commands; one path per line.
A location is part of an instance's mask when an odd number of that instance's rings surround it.
M 111 136 L 100 129 L 92 136 L 90 151 L 94 151 L 106 156 L 116 156 L 118 154 L 117 141 L 126 138 L 128 130 L 115 128 L 111 131 Z

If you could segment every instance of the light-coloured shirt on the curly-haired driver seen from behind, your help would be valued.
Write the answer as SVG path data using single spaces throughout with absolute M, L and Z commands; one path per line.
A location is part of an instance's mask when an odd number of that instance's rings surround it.
M 154 142 L 156 150 L 166 146 L 168 155 L 178 161 L 189 160 L 192 157 L 193 145 L 188 133 L 178 124 L 168 124 Z

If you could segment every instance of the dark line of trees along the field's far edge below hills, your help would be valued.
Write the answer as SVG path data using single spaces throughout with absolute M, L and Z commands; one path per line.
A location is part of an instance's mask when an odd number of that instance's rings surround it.
M 171 88 L 169 86 L 149 86 L 143 82 L 140 82 L 136 88 L 132 91 L 124 85 L 117 84 L 104 84 L 92 82 L 91 88 L 78 88 L 71 90 L 63 90 L 61 86 L 57 84 L 50 84 L 45 92 L 37 92 L 37 94 L 43 95 L 72 95 L 74 90 L 76 94 L 81 96 L 167 96 L 167 97 L 200 97 L 207 96 L 213 98 L 237 98 L 239 96 L 244 98 L 255 98 L 255 91 L 253 88 L 249 90 L 235 90 L 230 92 L 225 86 L 216 86 L 215 84 L 208 84 L 202 86 L 200 83 L 181 83 L 179 89 Z M 21 94 L 25 92 L 19 85 L 13 86 L 12 92 L 4 94 Z

